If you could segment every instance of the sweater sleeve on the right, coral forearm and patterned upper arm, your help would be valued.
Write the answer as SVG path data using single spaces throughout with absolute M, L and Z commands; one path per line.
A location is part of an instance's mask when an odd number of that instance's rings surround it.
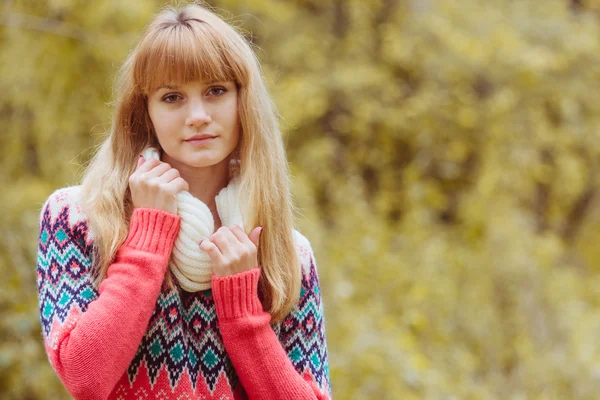
M 223 343 L 251 400 L 331 398 L 323 303 L 312 250 L 307 251 L 300 302 L 282 321 L 280 338 L 258 298 L 259 268 L 213 276 Z

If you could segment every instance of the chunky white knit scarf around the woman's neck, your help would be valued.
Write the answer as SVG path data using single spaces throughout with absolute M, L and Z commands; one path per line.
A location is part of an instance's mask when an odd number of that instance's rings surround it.
M 160 160 L 160 154 L 154 147 L 148 147 L 142 155 L 146 160 Z M 223 226 L 239 225 L 244 229 L 238 203 L 239 186 L 239 177 L 233 176 L 229 184 L 219 191 L 215 203 Z M 206 204 L 186 191 L 177 194 L 177 214 L 181 217 L 180 228 L 169 269 L 186 292 L 210 289 L 213 266 L 209 255 L 200 249 L 200 242 L 215 232 L 213 215 Z

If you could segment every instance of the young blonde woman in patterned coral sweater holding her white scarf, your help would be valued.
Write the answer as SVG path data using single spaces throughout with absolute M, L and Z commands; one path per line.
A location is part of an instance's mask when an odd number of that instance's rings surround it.
M 81 185 L 41 210 L 40 319 L 66 389 L 331 398 L 317 267 L 249 43 L 202 6 L 167 8 L 117 89 Z

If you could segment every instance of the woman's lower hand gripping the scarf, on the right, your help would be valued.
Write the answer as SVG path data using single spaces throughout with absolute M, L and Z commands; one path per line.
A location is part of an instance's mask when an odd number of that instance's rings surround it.
M 258 241 L 262 227 L 256 227 L 246 235 L 238 225 L 220 227 L 210 238 L 200 242 L 218 277 L 238 274 L 258 267 Z

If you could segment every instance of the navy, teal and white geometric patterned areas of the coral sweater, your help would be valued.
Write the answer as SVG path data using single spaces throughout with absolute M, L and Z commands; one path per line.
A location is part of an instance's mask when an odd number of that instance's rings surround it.
M 98 297 L 92 284 L 93 233 L 79 205 L 80 188 L 56 190 L 40 214 L 36 271 L 46 351 L 57 350 L 61 331 L 72 329 L 76 316 Z M 297 372 L 310 376 L 331 395 L 317 266 L 308 239 L 294 230 L 294 241 L 303 267 L 300 301 L 281 324 L 271 328 Z M 164 398 L 183 387 L 200 396 L 233 397 L 238 378 L 223 345 L 212 290 L 187 293 L 163 285 L 146 333 L 115 387 L 114 398 L 128 398 L 128 391 L 140 382 L 167 386 Z

